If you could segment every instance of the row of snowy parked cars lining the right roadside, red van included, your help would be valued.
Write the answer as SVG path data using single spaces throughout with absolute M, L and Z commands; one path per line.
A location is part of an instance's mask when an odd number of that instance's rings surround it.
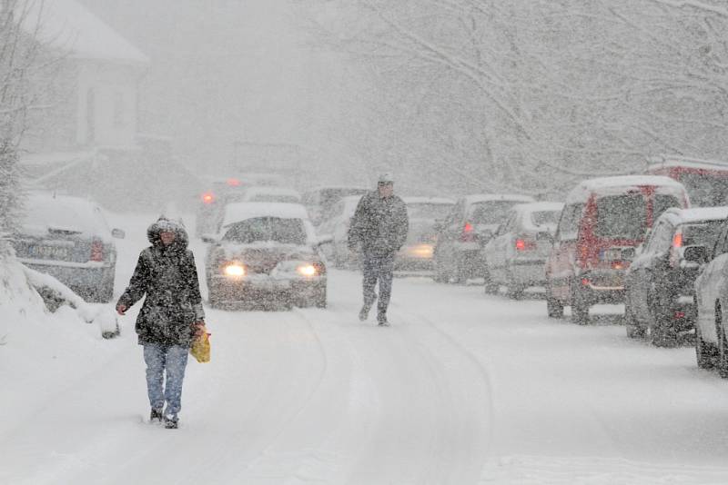
M 728 207 L 691 205 L 693 193 L 725 204 L 725 187 L 724 164 L 668 160 L 583 181 L 563 203 L 491 195 L 510 207 L 487 222 L 471 207 L 486 198 L 464 197 L 438 224 L 435 279 L 480 275 L 486 292 L 505 286 L 512 298 L 540 286 L 548 316 L 570 306 L 578 324 L 595 304 L 624 303 L 629 337 L 674 346 L 694 336 L 698 365 L 728 377 Z

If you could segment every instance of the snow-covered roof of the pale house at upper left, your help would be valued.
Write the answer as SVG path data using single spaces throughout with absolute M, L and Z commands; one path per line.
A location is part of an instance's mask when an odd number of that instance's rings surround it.
M 21 23 L 40 42 L 72 57 L 148 64 L 149 58 L 75 0 L 28 2 Z

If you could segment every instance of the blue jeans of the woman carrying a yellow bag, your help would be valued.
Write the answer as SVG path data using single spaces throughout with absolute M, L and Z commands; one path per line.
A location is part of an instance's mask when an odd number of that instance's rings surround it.
M 187 367 L 187 347 L 147 343 L 144 345 L 144 361 L 147 362 L 147 393 L 152 409 L 162 410 L 167 401 L 165 416 L 177 418 L 182 409 L 182 381 Z M 167 371 L 167 385 L 165 384 Z

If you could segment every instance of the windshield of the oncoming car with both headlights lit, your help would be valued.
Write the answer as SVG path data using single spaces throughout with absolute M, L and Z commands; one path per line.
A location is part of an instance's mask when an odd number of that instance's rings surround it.
M 278 217 L 256 217 L 227 228 L 223 241 L 251 244 L 275 242 L 283 244 L 305 244 L 306 229 L 300 219 Z

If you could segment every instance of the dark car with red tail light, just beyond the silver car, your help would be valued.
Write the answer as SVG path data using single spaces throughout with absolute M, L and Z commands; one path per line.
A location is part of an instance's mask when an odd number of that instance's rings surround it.
M 477 194 L 460 198 L 445 220 L 437 225 L 434 250 L 434 279 L 438 282 L 466 282 L 485 272 L 481 246 L 498 230 L 511 207 L 531 203 L 528 195 Z

